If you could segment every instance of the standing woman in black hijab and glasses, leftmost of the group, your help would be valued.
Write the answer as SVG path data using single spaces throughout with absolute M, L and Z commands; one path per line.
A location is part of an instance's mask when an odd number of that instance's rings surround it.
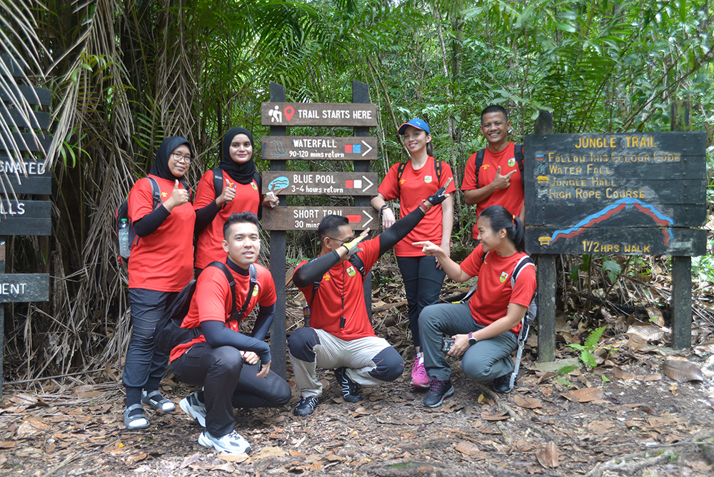
M 183 182 L 192 160 L 193 148 L 186 139 L 165 139 L 149 177 L 136 181 L 129 192 L 129 219 L 138 237 L 129 259 L 132 331 L 122 376 L 126 388 L 124 424 L 129 429 L 149 427 L 141 403 L 157 411 L 176 408 L 159 392 L 169 356 L 154 347 L 154 328 L 193 278 L 196 213 L 191 191 Z

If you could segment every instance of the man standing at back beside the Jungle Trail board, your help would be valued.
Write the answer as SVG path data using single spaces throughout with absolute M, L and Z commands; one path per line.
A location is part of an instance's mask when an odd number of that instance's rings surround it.
M 476 204 L 476 215 L 489 206 L 503 206 L 511 215 L 524 221 L 526 209 L 523 207 L 523 177 L 516 161 L 516 145 L 508 141 L 511 121 L 503 106 L 492 104 L 481 111 L 481 134 L 486 137 L 488 147 L 484 149 L 483 163 L 478 171 L 476 184 L 476 156 L 471 154 L 463 172 L 463 200 L 466 204 Z M 520 146 L 518 146 L 520 147 Z M 473 238 L 478 230 L 473 226 Z

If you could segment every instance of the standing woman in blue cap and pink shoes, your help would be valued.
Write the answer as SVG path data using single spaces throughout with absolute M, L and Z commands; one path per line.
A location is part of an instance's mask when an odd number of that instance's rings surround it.
M 399 126 L 398 133 L 404 136 L 404 148 L 411 159 L 394 164 L 382 183 L 372 206 L 382 216 L 383 229 L 388 229 L 396 218 L 386 201 L 399 199 L 400 216 L 407 216 L 421 204 L 424 194 L 433 194 L 442 186 L 451 194 L 441 205 L 433 206 L 413 231 L 394 246 L 397 264 L 401 271 L 409 308 L 411 328 L 416 356 L 411 370 L 411 383 L 420 388 L 429 387 L 429 378 L 424 368 L 419 341 L 419 313 L 428 305 L 438 302 L 441 286 L 446 273 L 434 256 L 424 256 L 421 247 L 414 242 L 431 241 L 440 244 L 448 255 L 450 252 L 451 227 L 453 225 L 453 175 L 451 167 L 433 158 L 431 130 L 421 119 L 412 119 Z

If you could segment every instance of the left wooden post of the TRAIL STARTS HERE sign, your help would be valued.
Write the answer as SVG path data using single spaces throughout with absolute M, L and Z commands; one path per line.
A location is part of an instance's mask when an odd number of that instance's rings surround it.
M 270 100 L 285 101 L 285 86 L 276 83 L 270 84 Z M 271 136 L 286 136 L 286 126 L 270 126 Z M 286 161 L 270 161 L 271 171 L 285 171 Z M 285 196 L 280 196 L 280 206 L 287 206 Z M 286 363 L 286 294 L 285 294 L 285 248 L 286 231 L 270 232 L 270 271 L 275 282 L 275 319 L 270 328 L 270 352 L 273 356 L 271 371 L 287 380 L 288 370 Z

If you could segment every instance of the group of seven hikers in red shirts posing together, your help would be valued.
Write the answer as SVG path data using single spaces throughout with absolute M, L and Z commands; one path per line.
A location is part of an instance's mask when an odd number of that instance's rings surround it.
M 318 368 L 334 371 L 347 402 L 361 400 L 360 386 L 402 375 L 404 361 L 376 336 L 363 293 L 365 276 L 391 248 L 403 276 L 416 348 L 411 383 L 428 388 L 424 406 L 439 406 L 453 394 L 442 351 L 445 334 L 453 338 L 448 354 L 463 355 L 466 376 L 493 380 L 500 393 L 511 391 L 510 355 L 535 291 L 535 271 L 529 267 L 511 286 L 513 268 L 526 253 L 522 152 L 517 161 L 517 146 L 507 137 L 510 128 L 501 106 L 482 112 L 488 147 L 468 159 L 461 188 L 466 203 L 477 206 L 473 233 L 479 244 L 461 264 L 450 258 L 453 175 L 445 161 L 434 159 L 431 131 L 421 119 L 398 129 L 410 160 L 391 167 L 371 201 L 383 232 L 373 239 L 368 230 L 355 236 L 346 217 L 324 217 L 317 231 L 320 253 L 298 263 L 293 273 L 308 316 L 306 326 L 288 338 L 300 393 L 293 413 L 306 416 L 320 403 Z M 195 154 L 181 137 L 161 144 L 149 173 L 161 189 L 160 204 L 149 179 L 137 181 L 129 194 L 129 219 L 138 239 L 129 260 L 133 331 L 123 375 L 124 423 L 129 429 L 149 427 L 143 404 L 174 410 L 174 402 L 159 391 L 170 361 L 179 381 L 201 387 L 179 403 L 203 427 L 198 443 L 236 453 L 249 451 L 250 444 L 235 431 L 233 408 L 284 406 L 291 388 L 270 372 L 270 348 L 263 340 L 273 321 L 276 293 L 270 272 L 256 263 L 261 207 L 277 206 L 278 198 L 273 192 L 261 194 L 249 131 L 231 129 L 222 146 L 221 164 L 203 174 L 195 199 L 182 181 Z M 399 200 L 398 220 L 388 206 L 393 199 Z M 154 346 L 154 328 L 194 274 L 196 292 L 181 326 L 198 328 L 200 334 L 167 356 Z M 458 282 L 478 276 L 468 303 L 438 304 L 446 275 Z M 241 333 L 239 322 L 256 306 L 252 332 Z

